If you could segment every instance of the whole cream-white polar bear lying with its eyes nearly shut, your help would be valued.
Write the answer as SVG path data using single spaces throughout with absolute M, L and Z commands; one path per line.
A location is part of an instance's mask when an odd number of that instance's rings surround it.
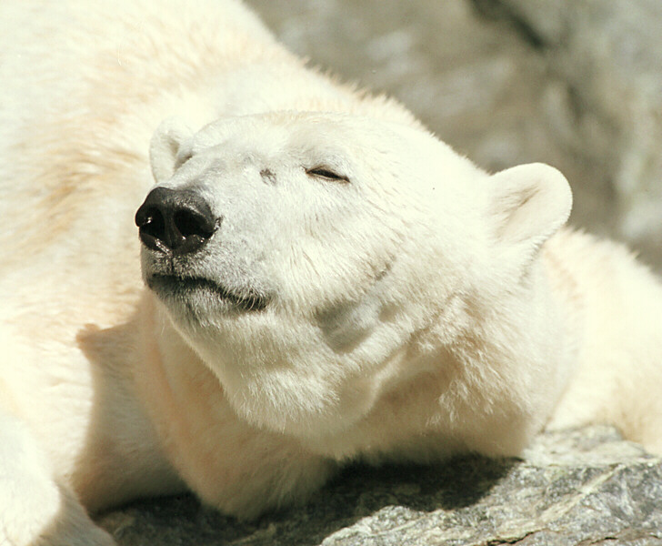
M 563 227 L 553 167 L 486 173 L 234 0 L 12 0 L 0 30 L 0 542 L 110 545 L 89 513 L 186 488 L 253 517 L 546 426 L 662 451 L 662 285 Z

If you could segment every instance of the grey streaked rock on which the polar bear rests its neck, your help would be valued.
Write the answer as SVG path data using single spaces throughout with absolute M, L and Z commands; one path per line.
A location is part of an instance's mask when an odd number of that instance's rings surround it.
M 662 544 L 662 460 L 608 427 L 548 432 L 523 460 L 355 465 L 306 505 L 256 522 L 182 496 L 100 523 L 123 546 Z

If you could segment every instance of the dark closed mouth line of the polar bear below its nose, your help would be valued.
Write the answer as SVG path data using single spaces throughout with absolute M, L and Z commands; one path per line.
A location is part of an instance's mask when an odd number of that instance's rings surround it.
M 203 295 L 224 301 L 243 311 L 261 311 L 267 304 L 264 296 L 250 289 L 238 294 L 208 278 L 155 274 L 147 278 L 147 286 L 159 296 L 191 298 L 194 295 Z

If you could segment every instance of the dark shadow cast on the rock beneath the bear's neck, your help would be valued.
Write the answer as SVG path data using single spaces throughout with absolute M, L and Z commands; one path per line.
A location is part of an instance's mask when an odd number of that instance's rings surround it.
M 305 504 L 258 521 L 237 521 L 182 495 L 136 502 L 100 522 L 123 546 L 307 546 L 368 516 L 392 527 L 428 512 L 466 508 L 483 499 L 515 463 L 471 456 L 433 466 L 354 464 Z

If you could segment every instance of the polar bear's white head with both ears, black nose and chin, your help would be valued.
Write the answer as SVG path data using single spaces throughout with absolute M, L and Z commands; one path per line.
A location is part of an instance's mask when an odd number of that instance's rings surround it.
M 147 286 L 247 420 L 332 434 L 476 328 L 567 219 L 551 167 L 494 176 L 341 114 L 176 121 L 138 210 Z

